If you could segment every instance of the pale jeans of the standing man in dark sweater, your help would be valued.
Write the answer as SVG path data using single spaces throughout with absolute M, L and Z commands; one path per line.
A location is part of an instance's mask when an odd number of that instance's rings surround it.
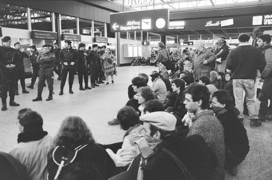
M 238 118 L 244 118 L 243 93 L 246 92 L 246 105 L 249 118 L 258 119 L 255 105 L 255 81 L 254 79 L 233 79 L 233 93 L 235 97 L 236 108 L 240 111 Z

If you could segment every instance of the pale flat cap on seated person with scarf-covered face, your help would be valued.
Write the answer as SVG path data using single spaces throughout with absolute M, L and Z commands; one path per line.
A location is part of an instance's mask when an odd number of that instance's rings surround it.
M 177 123 L 177 118 L 173 114 L 165 111 L 156 111 L 144 114 L 140 116 L 140 120 L 143 122 L 148 122 L 162 130 L 168 131 L 175 130 Z

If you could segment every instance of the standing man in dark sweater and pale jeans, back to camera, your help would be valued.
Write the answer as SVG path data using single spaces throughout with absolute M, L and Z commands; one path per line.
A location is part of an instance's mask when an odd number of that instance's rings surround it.
M 241 34 L 238 37 L 240 45 L 231 50 L 227 57 L 227 69 L 231 70 L 233 78 L 233 93 L 235 104 L 240 111 L 238 118 L 244 120 L 243 92 L 246 92 L 246 104 L 248 108 L 250 126 L 261 126 L 258 120 L 255 105 L 255 78 L 257 69 L 260 73 L 265 68 L 265 58 L 262 51 L 249 44 L 250 36 Z

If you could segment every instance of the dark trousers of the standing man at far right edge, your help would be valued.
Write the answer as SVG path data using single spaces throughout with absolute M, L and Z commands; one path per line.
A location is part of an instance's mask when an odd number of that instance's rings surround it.
M 270 100 L 269 107 L 268 100 Z M 267 114 L 272 115 L 272 78 L 265 79 L 265 82 L 259 94 L 259 101 L 260 110 L 258 117 L 265 117 Z

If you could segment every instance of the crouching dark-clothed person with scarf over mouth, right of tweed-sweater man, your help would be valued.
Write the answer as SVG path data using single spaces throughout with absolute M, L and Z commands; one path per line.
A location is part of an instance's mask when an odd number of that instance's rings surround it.
M 245 160 L 249 152 L 246 129 L 238 120 L 239 110 L 234 109 L 229 93 L 218 90 L 212 95 L 212 109 L 224 128 L 226 163 L 232 175 L 237 174 L 237 165 Z

